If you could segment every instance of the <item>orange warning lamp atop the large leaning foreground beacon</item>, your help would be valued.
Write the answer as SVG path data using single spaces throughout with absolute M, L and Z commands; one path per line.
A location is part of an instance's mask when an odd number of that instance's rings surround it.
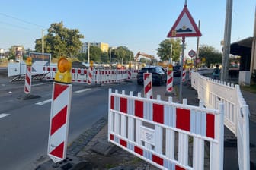
M 59 58 L 58 71 L 55 75 L 55 81 L 61 83 L 71 83 L 71 62 L 64 57 Z

